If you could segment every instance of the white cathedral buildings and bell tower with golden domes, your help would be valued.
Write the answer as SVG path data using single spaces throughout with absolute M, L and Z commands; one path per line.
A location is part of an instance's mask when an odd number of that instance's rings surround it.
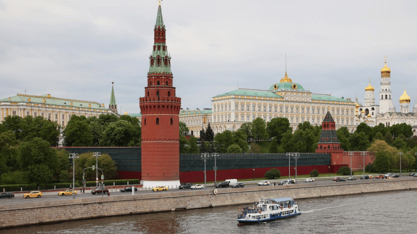
M 391 91 L 391 69 L 387 67 L 387 61 L 385 66 L 381 69 L 381 90 L 379 91 L 379 105 L 375 105 L 375 90 L 369 85 L 365 88 L 365 105 L 359 104 L 356 98 L 356 123 L 364 122 L 370 127 L 377 126 L 379 123 L 383 123 L 385 126 L 392 126 L 393 124 L 409 124 L 414 135 L 417 131 L 417 102 L 414 105 L 412 111 L 410 111 L 410 97 L 404 88 L 404 93 L 399 98 L 399 104 L 401 110 L 397 112 L 392 104 L 392 91 Z

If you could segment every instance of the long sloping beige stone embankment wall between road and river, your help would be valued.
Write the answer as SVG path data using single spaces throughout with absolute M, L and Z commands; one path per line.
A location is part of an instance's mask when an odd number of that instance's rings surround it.
M 126 214 L 250 204 L 260 197 L 305 199 L 344 194 L 417 189 L 417 178 L 369 180 L 362 183 L 303 183 L 283 186 L 184 190 L 149 194 L 0 205 L 0 229 L 40 223 L 94 219 Z M 76 212 L 68 212 L 76 211 Z

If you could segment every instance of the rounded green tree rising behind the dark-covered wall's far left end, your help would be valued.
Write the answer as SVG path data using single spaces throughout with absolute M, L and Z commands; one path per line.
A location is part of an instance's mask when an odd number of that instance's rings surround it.
M 85 116 L 71 116 L 64 130 L 66 146 L 91 146 L 93 144 L 91 128 L 85 121 L 86 119 Z

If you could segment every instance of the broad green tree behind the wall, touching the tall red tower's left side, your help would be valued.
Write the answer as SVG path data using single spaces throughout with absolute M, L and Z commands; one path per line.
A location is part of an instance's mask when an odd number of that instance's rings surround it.
M 134 147 L 141 145 L 141 126 L 132 125 L 126 120 L 108 124 L 100 139 L 103 147 Z

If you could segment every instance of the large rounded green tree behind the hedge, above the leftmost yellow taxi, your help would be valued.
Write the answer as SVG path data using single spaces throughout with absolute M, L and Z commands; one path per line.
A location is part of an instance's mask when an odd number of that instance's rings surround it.
M 53 179 L 53 173 L 58 168 L 58 158 L 49 142 L 35 137 L 29 142 L 20 143 L 19 164 L 28 181 L 39 186 Z

